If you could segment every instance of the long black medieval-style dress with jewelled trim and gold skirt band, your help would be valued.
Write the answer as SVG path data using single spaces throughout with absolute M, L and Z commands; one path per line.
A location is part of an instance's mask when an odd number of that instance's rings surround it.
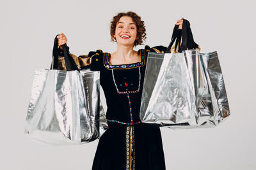
M 139 115 L 147 53 L 165 49 L 145 46 L 138 51 L 141 62 L 125 65 L 109 64 L 110 53 L 101 50 L 89 53 L 90 69 L 100 71 L 109 125 L 99 139 L 93 170 L 165 169 L 160 129 L 141 123 Z

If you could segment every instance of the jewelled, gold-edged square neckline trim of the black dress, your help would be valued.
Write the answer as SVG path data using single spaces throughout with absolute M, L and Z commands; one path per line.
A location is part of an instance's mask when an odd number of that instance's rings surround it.
M 140 56 L 141 56 L 141 61 L 140 62 L 135 62 L 131 64 L 117 64 L 117 65 L 112 65 L 109 63 L 109 56 L 110 53 L 104 53 L 104 58 L 103 58 L 103 64 L 106 67 L 106 69 L 132 69 L 136 67 L 141 67 L 145 65 L 145 50 L 141 49 L 140 50 Z

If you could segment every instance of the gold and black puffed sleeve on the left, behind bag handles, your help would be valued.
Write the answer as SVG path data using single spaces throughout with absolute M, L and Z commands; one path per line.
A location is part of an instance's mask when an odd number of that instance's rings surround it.
M 102 58 L 102 51 L 97 50 L 96 52 L 90 52 L 88 55 L 79 55 L 78 57 L 73 53 L 70 53 L 75 60 L 79 69 L 91 69 L 92 71 L 100 71 L 100 59 Z M 58 69 L 67 70 L 65 67 L 65 60 L 63 52 L 59 50 L 59 63 Z

